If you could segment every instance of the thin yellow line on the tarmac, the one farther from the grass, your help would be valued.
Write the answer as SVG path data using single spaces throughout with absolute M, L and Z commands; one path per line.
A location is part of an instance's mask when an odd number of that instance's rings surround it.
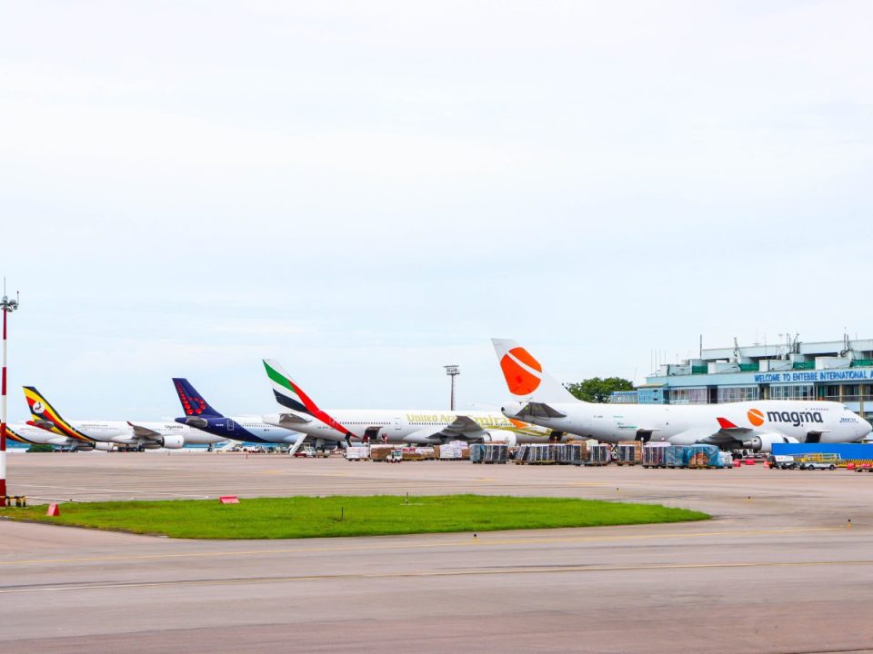
M 649 570 L 737 570 L 743 568 L 812 568 L 828 566 L 873 565 L 873 560 L 833 561 L 773 561 L 738 563 L 664 563 L 637 566 L 566 566 L 547 568 L 504 568 L 501 570 L 424 570 L 414 572 L 379 572 L 373 574 L 351 573 L 336 575 L 301 575 L 297 577 L 252 577 L 232 580 L 176 580 L 176 581 L 129 581 L 104 584 L 83 583 L 75 586 L 41 586 L 38 588 L 0 589 L 0 595 L 24 592 L 58 592 L 65 590 L 106 590 L 134 588 L 173 588 L 182 586 L 235 586 L 256 583 L 291 583 L 296 581 L 343 581 L 343 580 L 391 580 L 423 579 L 438 577 L 493 577 L 511 574 L 556 574 L 577 572 L 643 572 Z

